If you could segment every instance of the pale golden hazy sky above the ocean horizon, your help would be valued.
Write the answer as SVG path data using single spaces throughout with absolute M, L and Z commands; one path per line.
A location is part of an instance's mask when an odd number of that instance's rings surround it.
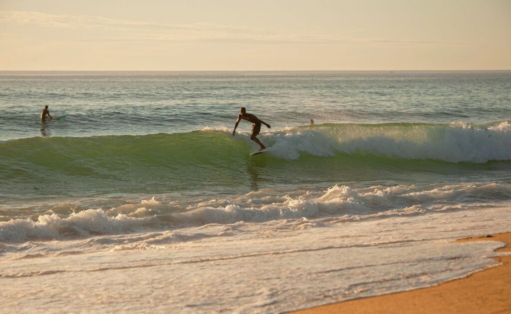
M 511 0 L 0 0 L 0 71 L 510 69 Z

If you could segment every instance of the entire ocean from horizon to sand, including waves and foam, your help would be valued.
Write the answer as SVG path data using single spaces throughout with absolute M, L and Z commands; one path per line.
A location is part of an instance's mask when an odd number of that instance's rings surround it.
M 4 309 L 282 312 L 493 266 L 454 240 L 511 230 L 510 109 L 511 71 L 0 72 Z

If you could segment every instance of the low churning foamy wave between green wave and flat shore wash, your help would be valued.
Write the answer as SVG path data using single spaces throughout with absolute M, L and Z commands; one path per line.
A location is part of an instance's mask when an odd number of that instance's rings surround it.
M 0 242 L 65 240 L 97 235 L 174 230 L 185 226 L 293 219 L 287 229 L 320 227 L 307 219 L 337 217 L 358 221 L 428 212 L 470 210 L 511 200 L 511 185 L 474 183 L 432 186 L 333 186 L 324 191 L 278 193 L 261 190 L 221 199 L 159 201 L 155 198 L 111 209 L 70 215 L 48 213 L 36 221 L 0 222 Z M 306 218 L 303 220 L 303 218 Z M 298 219 L 298 220 L 296 220 Z M 235 229 L 226 232 L 236 232 Z M 151 243 L 157 248 L 158 243 Z M 136 249 L 136 248 L 125 248 Z M 147 249 L 147 248 L 144 248 Z

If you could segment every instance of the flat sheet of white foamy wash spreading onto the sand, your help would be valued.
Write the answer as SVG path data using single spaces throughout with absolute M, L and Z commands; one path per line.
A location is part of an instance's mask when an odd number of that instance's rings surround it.
M 334 187 L 316 200 L 357 201 L 413 187 L 385 190 Z M 64 311 L 282 312 L 387 294 L 495 265 L 489 257 L 503 243 L 454 238 L 509 230 L 509 205 L 429 214 L 413 205 L 375 213 L 391 219 L 239 221 L 9 244 L 19 249 L 0 259 L 0 280 L 11 283 L 0 296 L 7 311 L 20 303 L 52 311 L 58 303 Z

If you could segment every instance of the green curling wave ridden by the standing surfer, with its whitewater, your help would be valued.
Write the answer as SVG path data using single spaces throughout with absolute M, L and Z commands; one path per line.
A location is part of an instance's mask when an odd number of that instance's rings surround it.
M 247 132 L 233 138 L 227 129 L 7 141 L 0 144 L 0 196 L 406 182 L 410 171 L 459 175 L 490 169 L 508 176 L 511 161 L 509 121 L 324 124 L 264 132 L 260 138 L 270 149 L 257 157 L 249 155 L 257 148 Z

